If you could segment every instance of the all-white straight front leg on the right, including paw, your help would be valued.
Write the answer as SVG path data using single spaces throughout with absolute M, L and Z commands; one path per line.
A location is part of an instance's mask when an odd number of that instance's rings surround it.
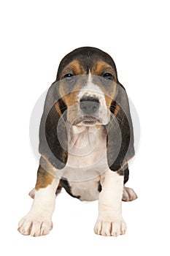
M 98 219 L 94 232 L 101 236 L 119 236 L 125 234 L 125 222 L 122 217 L 123 176 L 107 170 L 101 177 L 102 190 L 98 201 Z

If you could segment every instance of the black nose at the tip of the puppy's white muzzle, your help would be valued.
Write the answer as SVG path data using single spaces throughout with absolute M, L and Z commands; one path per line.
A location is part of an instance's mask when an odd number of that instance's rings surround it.
M 80 99 L 80 109 L 86 115 L 95 113 L 99 108 L 99 101 L 96 97 L 83 97 Z

